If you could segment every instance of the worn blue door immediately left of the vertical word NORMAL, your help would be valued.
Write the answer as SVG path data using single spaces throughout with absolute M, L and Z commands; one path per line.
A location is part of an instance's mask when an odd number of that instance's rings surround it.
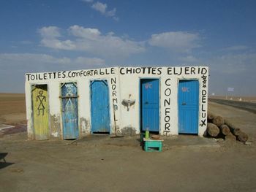
M 108 82 L 91 82 L 91 132 L 110 133 Z

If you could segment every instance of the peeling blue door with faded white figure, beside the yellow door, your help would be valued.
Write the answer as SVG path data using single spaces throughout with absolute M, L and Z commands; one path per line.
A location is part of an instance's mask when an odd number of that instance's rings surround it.
M 78 88 L 74 82 L 61 86 L 63 138 L 78 138 Z

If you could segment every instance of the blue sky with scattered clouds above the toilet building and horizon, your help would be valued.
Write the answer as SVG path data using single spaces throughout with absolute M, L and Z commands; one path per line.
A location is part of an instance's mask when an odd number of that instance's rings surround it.
M 256 1 L 0 2 L 0 92 L 26 72 L 209 66 L 209 93 L 256 96 Z

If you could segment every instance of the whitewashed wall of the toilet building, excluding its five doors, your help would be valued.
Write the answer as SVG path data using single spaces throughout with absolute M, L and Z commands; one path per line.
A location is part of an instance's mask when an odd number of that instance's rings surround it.
M 47 84 L 50 108 L 50 136 L 62 138 L 61 83 L 77 82 L 78 85 L 78 125 L 80 137 L 91 134 L 91 80 L 108 80 L 110 95 L 110 134 L 115 133 L 113 105 L 116 105 L 116 127 L 120 134 L 127 131 L 140 133 L 140 79 L 159 78 L 160 134 L 178 134 L 178 81 L 199 81 L 198 135 L 206 131 L 208 100 L 208 67 L 115 67 L 105 69 L 78 70 L 67 72 L 45 72 L 26 74 L 26 115 L 28 137 L 34 139 L 31 116 L 31 85 Z M 123 99 L 135 99 L 135 104 L 127 111 L 121 104 Z

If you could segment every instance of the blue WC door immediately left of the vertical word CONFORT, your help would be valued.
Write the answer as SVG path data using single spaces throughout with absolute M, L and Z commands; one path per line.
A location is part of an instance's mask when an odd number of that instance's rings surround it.
M 159 131 L 159 80 L 140 80 L 141 130 Z

